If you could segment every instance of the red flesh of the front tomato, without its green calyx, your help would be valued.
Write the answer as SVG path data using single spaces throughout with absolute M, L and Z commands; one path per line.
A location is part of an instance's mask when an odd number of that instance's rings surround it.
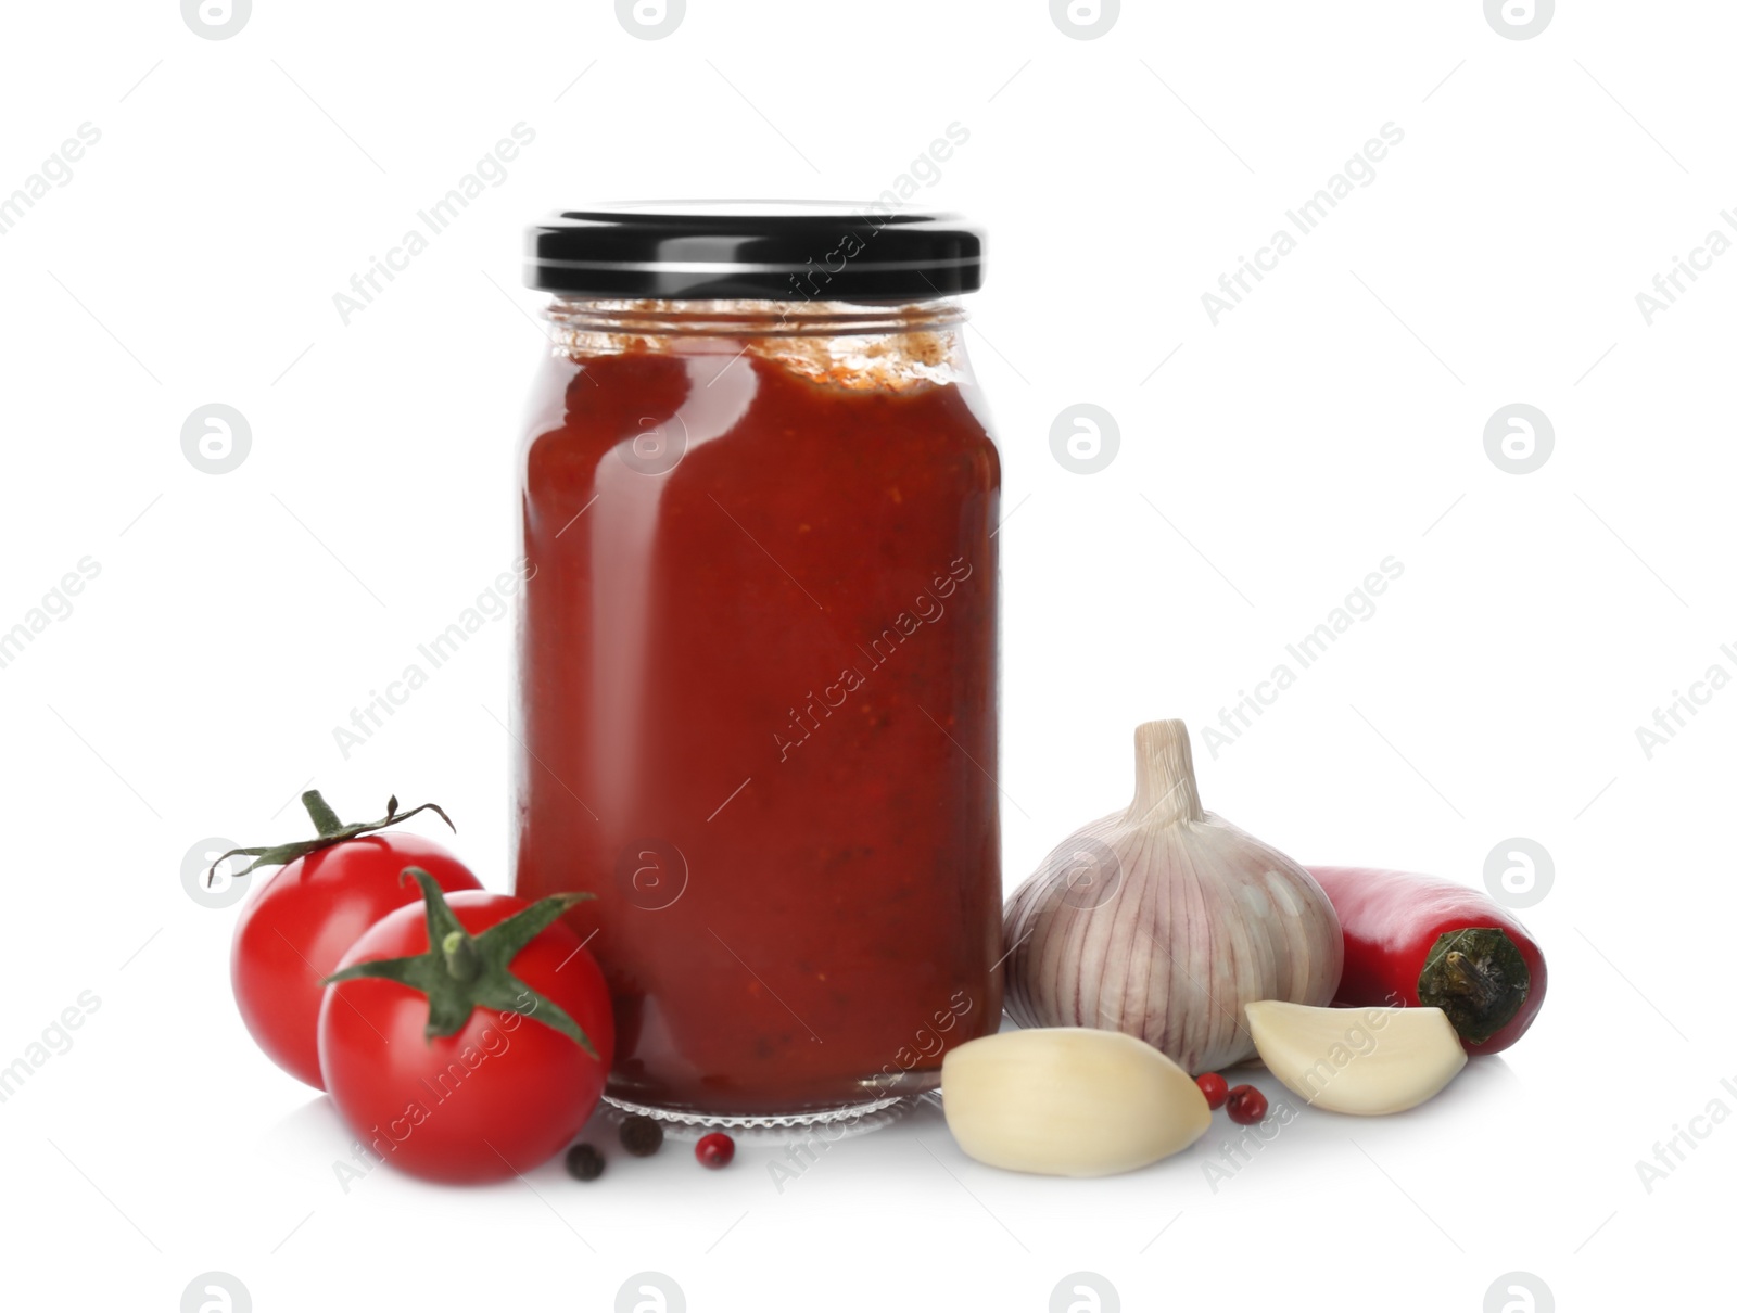
M 450 914 L 472 945 L 532 907 L 493 893 L 457 893 Z M 441 934 L 450 945 L 457 936 Z M 452 948 L 446 948 L 448 962 Z M 429 953 L 422 907 L 403 907 L 344 955 L 342 967 Z M 433 967 L 429 966 L 433 964 Z M 615 1056 L 610 992 L 596 959 L 561 920 L 545 926 L 509 964 L 516 992 L 502 1007 L 445 1004 L 457 1030 L 429 1035 L 431 999 L 398 980 L 342 980 L 320 1009 L 320 1066 L 327 1092 L 356 1138 L 386 1162 L 431 1181 L 497 1181 L 552 1158 L 591 1117 Z M 448 981 L 441 980 L 441 985 Z M 523 988 L 521 988 L 523 986 Z M 596 1056 L 545 1025 L 561 1009 Z

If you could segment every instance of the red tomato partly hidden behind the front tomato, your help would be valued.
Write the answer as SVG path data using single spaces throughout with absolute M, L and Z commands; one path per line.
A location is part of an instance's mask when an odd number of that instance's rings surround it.
M 368 834 L 290 861 L 254 889 L 234 927 L 229 981 L 241 1019 L 266 1056 L 297 1080 L 320 1080 L 323 981 L 373 922 L 408 903 L 422 867 L 443 889 L 479 889 L 462 861 L 413 834 Z

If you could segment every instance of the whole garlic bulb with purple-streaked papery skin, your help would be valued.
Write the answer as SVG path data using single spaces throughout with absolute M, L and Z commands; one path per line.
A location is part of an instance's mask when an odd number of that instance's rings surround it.
M 1007 900 L 1007 1013 L 1138 1035 L 1192 1075 L 1254 1054 L 1244 1006 L 1324 1007 L 1344 967 L 1327 894 L 1202 811 L 1188 728 L 1134 731 L 1134 801 L 1073 834 Z

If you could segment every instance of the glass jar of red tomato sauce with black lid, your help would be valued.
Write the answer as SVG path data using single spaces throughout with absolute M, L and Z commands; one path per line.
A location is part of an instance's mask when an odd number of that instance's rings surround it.
M 532 231 L 514 879 L 596 894 L 620 1106 L 853 1115 L 999 1026 L 980 252 L 844 208 Z

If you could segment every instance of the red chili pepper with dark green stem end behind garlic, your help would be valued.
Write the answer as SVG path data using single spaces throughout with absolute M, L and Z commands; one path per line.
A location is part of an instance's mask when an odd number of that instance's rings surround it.
M 1310 867 L 1344 931 L 1339 1007 L 1440 1007 L 1466 1052 L 1501 1052 L 1544 1004 L 1544 953 L 1525 926 L 1433 875 Z

